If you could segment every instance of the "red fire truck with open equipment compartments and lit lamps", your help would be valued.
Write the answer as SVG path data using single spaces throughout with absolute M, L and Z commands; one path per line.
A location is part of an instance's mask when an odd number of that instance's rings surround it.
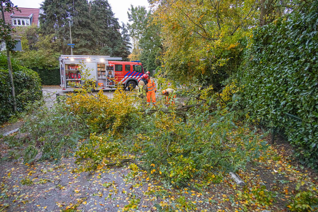
M 136 88 L 144 74 L 140 61 L 123 62 L 121 57 L 61 55 L 59 57 L 61 88 L 73 90 L 83 84 L 83 71 L 89 72 L 88 79 L 93 79 L 96 89 L 112 88 L 122 84 L 124 88 Z M 81 67 L 82 64 L 82 67 Z M 85 70 L 84 70 L 85 69 Z M 75 82 L 79 87 L 72 87 Z

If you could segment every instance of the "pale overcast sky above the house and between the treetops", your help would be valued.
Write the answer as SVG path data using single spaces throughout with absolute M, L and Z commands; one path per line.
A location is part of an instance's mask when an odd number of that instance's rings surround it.
M 42 3 L 43 0 L 11 0 L 11 2 L 18 7 L 39 8 L 40 3 Z M 108 0 L 108 2 L 115 13 L 115 17 L 118 18 L 120 25 L 121 22 L 124 22 L 125 24 L 128 22 L 127 11 L 128 8 L 130 8 L 130 4 L 133 4 L 134 6 L 145 6 L 147 10 L 149 10 L 149 3 L 147 0 Z

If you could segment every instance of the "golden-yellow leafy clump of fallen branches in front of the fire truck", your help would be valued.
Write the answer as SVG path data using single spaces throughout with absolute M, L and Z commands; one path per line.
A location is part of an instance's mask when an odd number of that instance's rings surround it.
M 127 93 L 119 88 L 114 92 L 113 98 L 104 95 L 102 91 L 94 98 L 87 92 L 72 94 L 67 99 L 67 104 L 70 105 L 70 111 L 85 120 L 92 132 L 106 129 L 119 134 L 123 129 L 135 126 L 139 115 L 134 106 L 137 100 L 134 93 Z

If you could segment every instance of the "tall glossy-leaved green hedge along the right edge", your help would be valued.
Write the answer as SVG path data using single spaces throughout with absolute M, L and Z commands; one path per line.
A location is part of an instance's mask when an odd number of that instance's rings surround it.
M 318 168 L 318 1 L 300 8 L 253 32 L 242 105 L 251 120 L 285 129 L 296 156 Z

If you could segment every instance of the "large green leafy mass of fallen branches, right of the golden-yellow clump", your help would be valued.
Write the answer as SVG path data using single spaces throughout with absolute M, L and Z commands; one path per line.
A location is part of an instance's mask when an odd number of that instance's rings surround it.
M 155 164 L 156 172 L 172 184 L 182 185 L 210 171 L 236 170 L 258 157 L 266 144 L 257 144 L 253 132 L 245 135 L 234 124 L 232 113 L 205 112 L 190 116 L 187 122 L 175 116 L 156 116 L 155 122 L 144 124 L 146 133 L 136 144 L 142 143 L 145 165 Z

